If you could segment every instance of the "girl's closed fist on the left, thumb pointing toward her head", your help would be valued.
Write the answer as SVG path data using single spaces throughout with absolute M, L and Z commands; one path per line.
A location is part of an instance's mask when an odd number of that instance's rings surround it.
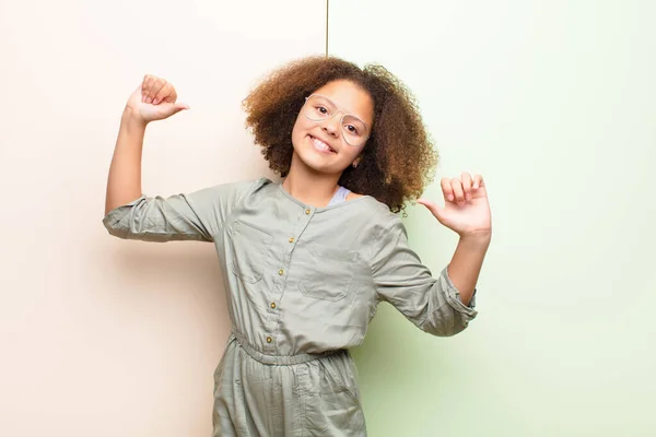
M 127 108 L 132 116 L 148 123 L 168 118 L 183 109 L 189 109 L 189 106 L 176 101 L 177 92 L 169 82 L 147 74 L 128 99 Z

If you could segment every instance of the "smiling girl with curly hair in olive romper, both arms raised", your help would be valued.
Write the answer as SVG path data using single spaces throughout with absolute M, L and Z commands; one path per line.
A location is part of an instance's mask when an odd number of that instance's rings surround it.
M 215 371 L 214 436 L 365 436 L 355 366 L 380 302 L 434 335 L 462 331 L 490 244 L 480 175 L 443 179 L 445 206 L 419 200 L 459 235 L 435 277 L 399 217 L 436 164 L 411 94 L 387 70 L 332 57 L 291 62 L 244 101 L 247 126 L 283 181 L 188 194 L 141 191 L 150 121 L 179 110 L 147 75 L 122 115 L 104 225 L 120 238 L 212 241 L 232 334 Z

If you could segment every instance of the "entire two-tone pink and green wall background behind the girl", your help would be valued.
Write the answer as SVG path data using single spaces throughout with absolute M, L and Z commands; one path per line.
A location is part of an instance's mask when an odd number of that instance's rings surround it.
M 398 74 L 436 180 L 483 174 L 493 212 L 470 329 L 383 306 L 353 351 L 370 435 L 656 435 L 655 21 L 640 0 L 0 0 L 0 435 L 211 433 L 221 273 L 212 245 L 103 228 L 121 109 L 145 73 L 191 107 L 149 127 L 149 194 L 270 175 L 241 101 L 326 50 Z M 408 210 L 438 272 L 456 237 Z

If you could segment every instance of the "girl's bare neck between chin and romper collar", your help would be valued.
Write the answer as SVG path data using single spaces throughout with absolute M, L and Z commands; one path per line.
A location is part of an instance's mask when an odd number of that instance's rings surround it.
M 341 175 L 328 175 L 313 170 L 300 164 L 301 160 L 292 156 L 290 173 L 282 182 L 282 188 L 294 199 L 313 206 L 326 206 L 339 189 Z

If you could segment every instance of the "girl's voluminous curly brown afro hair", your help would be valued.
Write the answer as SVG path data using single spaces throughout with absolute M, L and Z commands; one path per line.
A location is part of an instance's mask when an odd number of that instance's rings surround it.
M 349 166 L 339 184 L 368 194 L 397 213 L 433 180 L 437 152 L 423 125 L 414 96 L 394 74 L 377 64 L 361 69 L 336 57 L 292 61 L 269 73 L 244 99 L 246 127 L 262 146 L 269 167 L 281 177 L 290 170 L 292 129 L 305 97 L 336 80 L 348 80 L 374 102 L 374 123 L 356 168 Z

